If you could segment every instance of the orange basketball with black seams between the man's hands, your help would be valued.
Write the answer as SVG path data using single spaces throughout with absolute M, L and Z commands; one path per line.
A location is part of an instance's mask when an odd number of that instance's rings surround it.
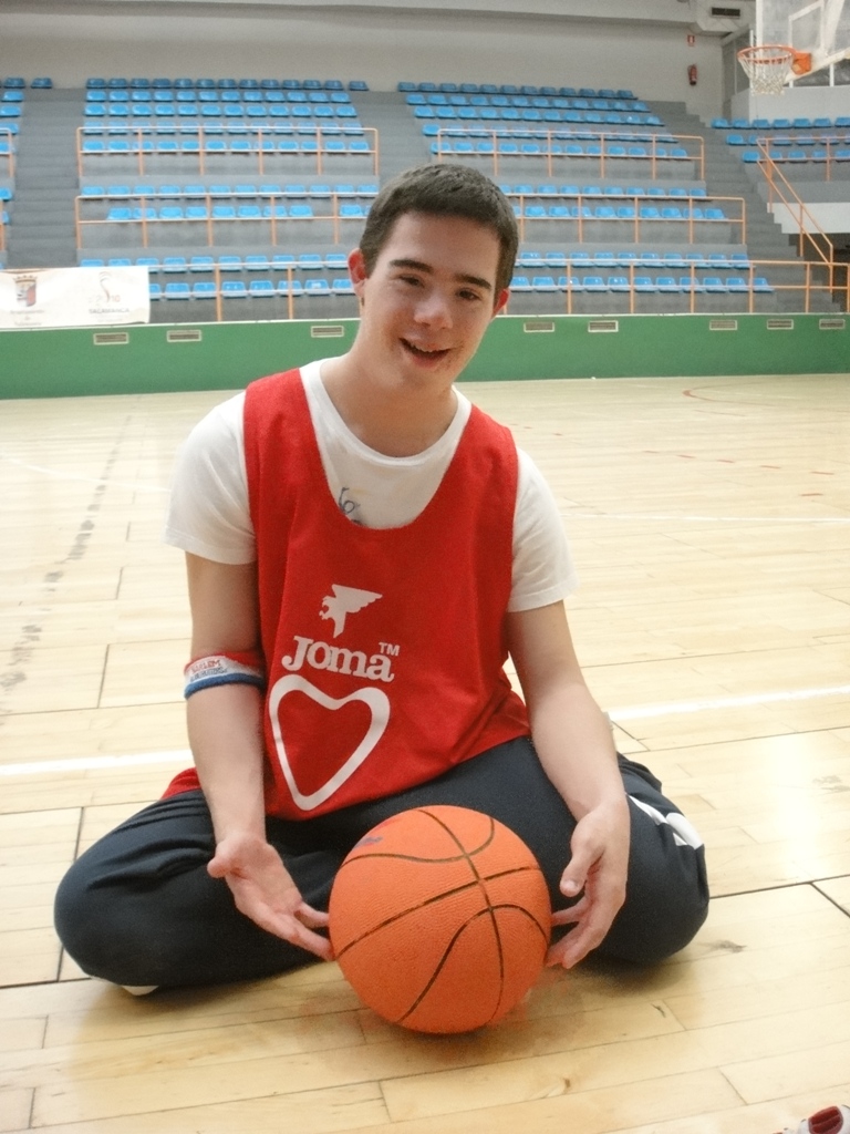
M 525 843 L 490 815 L 448 806 L 373 828 L 340 866 L 329 912 L 360 999 L 418 1032 L 501 1019 L 537 980 L 551 924 Z

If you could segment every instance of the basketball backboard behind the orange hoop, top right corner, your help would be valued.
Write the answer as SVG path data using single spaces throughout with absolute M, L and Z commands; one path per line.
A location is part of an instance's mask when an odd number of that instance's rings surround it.
M 845 0 L 756 0 L 755 43 L 787 44 L 811 56 L 811 69 L 850 58 Z

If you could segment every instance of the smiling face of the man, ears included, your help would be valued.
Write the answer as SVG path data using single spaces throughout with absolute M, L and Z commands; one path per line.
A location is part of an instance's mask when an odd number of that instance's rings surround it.
M 427 213 L 399 217 L 368 276 L 352 252 L 360 365 L 382 382 L 448 389 L 507 302 L 496 291 L 499 256 L 492 229 Z

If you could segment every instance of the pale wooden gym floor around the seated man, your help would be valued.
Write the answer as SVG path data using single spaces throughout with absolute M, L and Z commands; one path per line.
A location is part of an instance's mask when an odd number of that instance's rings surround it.
M 571 621 L 713 905 L 655 971 L 546 971 L 427 1038 L 335 965 L 133 999 L 51 926 L 85 846 L 186 763 L 177 445 L 215 393 L 0 407 L 0 1131 L 773 1134 L 850 1103 L 847 375 L 493 383 L 556 493 Z

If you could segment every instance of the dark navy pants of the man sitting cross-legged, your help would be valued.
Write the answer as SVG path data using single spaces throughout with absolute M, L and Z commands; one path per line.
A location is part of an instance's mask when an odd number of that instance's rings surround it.
M 652 964 L 705 921 L 705 853 L 647 769 L 621 756 L 620 770 L 631 811 L 628 894 L 598 953 Z M 304 899 L 326 909 L 355 843 L 389 815 L 426 804 L 473 807 L 510 827 L 536 855 L 553 908 L 567 904 L 558 883 L 576 822 L 525 738 L 384 799 L 298 822 L 269 819 L 267 837 Z M 161 799 L 104 836 L 57 892 L 68 953 L 93 976 L 163 987 L 249 980 L 315 959 L 237 911 L 227 883 L 206 872 L 213 848 L 201 792 Z

